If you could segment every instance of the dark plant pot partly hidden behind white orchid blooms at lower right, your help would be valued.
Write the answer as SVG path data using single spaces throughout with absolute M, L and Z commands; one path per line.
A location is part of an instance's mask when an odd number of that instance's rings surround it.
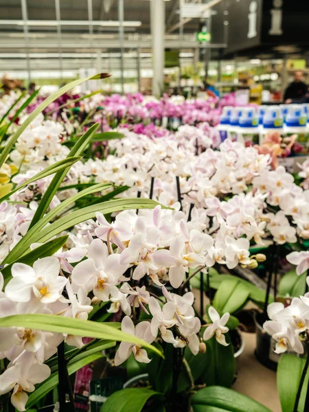
M 268 367 L 268 369 L 272 369 L 273 371 L 277 370 L 279 359 L 283 354 L 276 354 L 274 352 L 276 341 L 273 339 L 273 336 L 268 334 L 263 329 L 263 323 L 266 321 L 264 319 L 263 313 L 256 313 L 255 317 L 255 326 L 256 326 L 256 348 L 255 348 L 255 358 L 258 359 L 262 365 Z M 306 346 L 304 345 L 304 354 L 297 354 L 293 350 L 286 350 L 285 354 L 294 354 L 303 358 L 306 356 Z

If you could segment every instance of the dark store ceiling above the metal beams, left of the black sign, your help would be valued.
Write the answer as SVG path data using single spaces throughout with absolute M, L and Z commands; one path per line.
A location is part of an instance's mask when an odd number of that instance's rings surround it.
M 194 3 L 196 1 L 193 1 Z M 92 0 L 93 21 L 118 21 L 117 0 Z M 179 21 L 179 0 L 165 1 L 165 21 L 170 27 Z M 42 26 L 30 27 L 31 32 L 56 31 L 56 27 L 44 26 L 44 22 L 56 20 L 54 0 L 27 0 L 27 17 L 29 20 L 42 21 Z M 88 0 L 60 0 L 60 18 L 66 21 L 86 21 L 89 19 Z M 0 0 L 0 20 L 21 20 L 21 0 Z M 150 34 L 150 1 L 124 0 L 124 20 L 141 21 L 139 27 L 126 28 L 126 31 Z M 185 25 L 186 33 L 195 32 L 198 19 Z M 0 32 L 20 32 L 23 26 L 1 25 Z M 87 26 L 62 26 L 65 32 L 87 32 Z M 93 27 L 93 32 L 115 32 L 117 27 Z

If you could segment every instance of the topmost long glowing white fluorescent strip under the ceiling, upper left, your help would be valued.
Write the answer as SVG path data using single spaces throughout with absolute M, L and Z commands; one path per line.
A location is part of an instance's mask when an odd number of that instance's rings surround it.
M 105 21 L 88 21 L 88 20 L 80 20 L 80 21 L 71 21 L 71 20 L 61 20 L 60 22 L 56 20 L 28 20 L 28 26 L 57 26 L 58 23 L 60 25 L 67 25 L 67 26 L 89 26 L 89 25 L 98 25 L 103 27 L 119 27 L 119 21 L 115 20 L 105 20 Z M 0 25 L 24 25 L 23 20 L 0 20 Z M 124 27 L 139 27 L 141 26 L 141 21 L 124 21 Z

